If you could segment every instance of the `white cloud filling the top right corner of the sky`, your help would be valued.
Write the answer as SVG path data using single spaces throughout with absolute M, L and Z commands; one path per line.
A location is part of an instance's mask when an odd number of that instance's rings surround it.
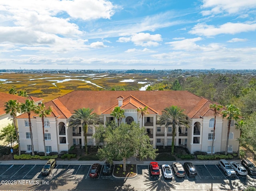
M 204 16 L 223 12 L 234 14 L 249 8 L 256 8 L 256 2 L 255 0 L 203 0 L 202 8 L 210 8 L 210 10 L 202 11 Z

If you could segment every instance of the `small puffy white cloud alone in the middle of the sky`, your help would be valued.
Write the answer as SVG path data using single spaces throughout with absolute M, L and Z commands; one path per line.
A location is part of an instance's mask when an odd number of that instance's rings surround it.
M 159 41 L 162 41 L 160 34 L 151 35 L 150 33 L 135 33 L 130 37 L 120 37 L 118 42 L 133 42 L 139 46 L 158 46 Z

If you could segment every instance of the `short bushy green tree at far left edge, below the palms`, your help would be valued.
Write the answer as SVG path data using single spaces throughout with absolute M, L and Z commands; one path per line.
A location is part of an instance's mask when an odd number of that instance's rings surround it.
M 6 144 L 11 144 L 12 147 L 13 143 L 17 140 L 15 127 L 13 124 L 8 124 L 1 129 L 0 140 L 4 140 L 4 143 Z

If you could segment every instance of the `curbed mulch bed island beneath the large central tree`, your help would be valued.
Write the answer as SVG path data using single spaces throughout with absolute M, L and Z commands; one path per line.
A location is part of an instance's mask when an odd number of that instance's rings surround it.
M 116 177 L 124 177 L 124 178 L 135 177 L 137 175 L 136 165 L 132 165 L 132 164 L 126 165 L 126 172 L 123 171 L 122 165 L 114 165 L 113 175 Z

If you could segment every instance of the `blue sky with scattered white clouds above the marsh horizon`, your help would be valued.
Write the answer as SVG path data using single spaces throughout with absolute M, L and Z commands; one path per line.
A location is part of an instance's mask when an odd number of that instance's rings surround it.
M 1 0 L 0 69 L 256 69 L 256 0 Z

